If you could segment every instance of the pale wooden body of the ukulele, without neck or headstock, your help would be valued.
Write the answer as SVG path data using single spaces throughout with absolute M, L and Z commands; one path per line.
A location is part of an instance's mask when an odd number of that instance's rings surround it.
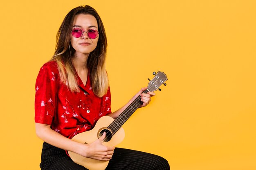
M 95 140 L 101 137 L 100 132 L 107 129 L 108 125 L 110 125 L 114 121 L 113 118 L 110 116 L 103 116 L 101 117 L 97 123 L 95 124 L 94 128 L 90 131 L 85 131 L 83 133 L 79 133 L 75 135 L 72 140 L 82 143 L 82 144 L 90 144 Z M 121 127 L 114 136 L 111 136 L 110 141 L 103 142 L 105 146 L 116 146 L 117 144 L 121 143 L 124 140 L 124 129 Z M 104 170 L 108 166 L 108 161 L 99 161 L 96 159 L 91 159 L 87 157 L 83 157 L 77 153 L 68 151 L 71 159 L 89 170 Z

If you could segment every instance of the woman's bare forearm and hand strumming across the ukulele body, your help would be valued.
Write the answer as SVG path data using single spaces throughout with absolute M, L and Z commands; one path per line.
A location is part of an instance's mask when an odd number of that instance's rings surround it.
M 36 135 L 48 144 L 97 160 L 110 160 L 115 149 L 115 147 L 102 145 L 106 133 L 103 133 L 99 139 L 91 144 L 81 144 L 52 130 L 48 124 L 36 123 Z

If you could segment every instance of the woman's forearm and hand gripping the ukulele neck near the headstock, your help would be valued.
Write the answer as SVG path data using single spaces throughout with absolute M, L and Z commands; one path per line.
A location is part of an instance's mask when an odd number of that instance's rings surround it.
M 148 92 L 148 93 L 142 93 L 147 89 L 147 87 L 142 88 L 137 94 L 135 94 L 135 96 L 133 96 L 128 103 L 126 103 L 126 105 L 124 105 L 123 107 L 121 107 L 120 109 L 118 109 L 115 112 L 110 113 L 108 116 L 112 117 L 112 118 L 117 118 L 117 116 L 119 116 L 122 111 L 124 111 L 124 109 L 126 109 L 126 107 L 128 107 L 139 95 L 141 96 L 141 101 L 143 102 L 143 104 L 140 107 L 145 107 L 149 104 L 149 102 L 151 101 L 151 97 L 155 96 L 154 92 Z

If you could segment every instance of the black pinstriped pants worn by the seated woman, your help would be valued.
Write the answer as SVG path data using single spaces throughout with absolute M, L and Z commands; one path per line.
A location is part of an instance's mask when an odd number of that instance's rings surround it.
M 87 170 L 74 163 L 65 150 L 43 143 L 42 170 Z M 166 159 L 136 150 L 115 148 L 106 170 L 169 170 Z

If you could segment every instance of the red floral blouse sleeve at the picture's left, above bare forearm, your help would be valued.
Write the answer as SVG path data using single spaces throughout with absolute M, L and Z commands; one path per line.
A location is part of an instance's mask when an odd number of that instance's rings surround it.
M 45 64 L 36 78 L 35 122 L 52 124 L 56 103 L 56 71 Z

